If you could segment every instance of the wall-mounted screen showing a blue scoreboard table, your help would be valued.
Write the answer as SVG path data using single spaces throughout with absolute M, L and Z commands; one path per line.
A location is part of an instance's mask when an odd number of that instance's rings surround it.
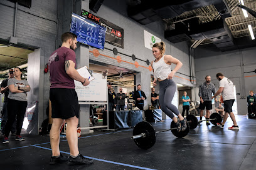
M 70 32 L 77 35 L 78 42 L 99 49 L 104 49 L 105 27 L 72 13 Z

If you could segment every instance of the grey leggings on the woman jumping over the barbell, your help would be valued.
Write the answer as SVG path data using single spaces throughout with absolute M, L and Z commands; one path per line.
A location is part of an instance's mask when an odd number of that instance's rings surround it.
M 173 79 L 166 79 L 159 82 L 159 103 L 162 111 L 167 114 L 171 119 L 173 119 L 174 114 L 178 116 L 179 110 L 171 104 L 173 101 L 173 96 L 176 92 L 176 84 Z M 174 113 L 174 114 L 173 114 Z

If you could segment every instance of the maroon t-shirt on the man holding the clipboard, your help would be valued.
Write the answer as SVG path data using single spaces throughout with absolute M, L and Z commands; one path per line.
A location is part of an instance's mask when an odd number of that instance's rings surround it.
M 65 61 L 68 60 L 75 63 L 75 51 L 67 47 L 60 47 L 51 54 L 48 60 L 51 78 L 50 88 L 75 89 L 74 80 L 65 71 Z

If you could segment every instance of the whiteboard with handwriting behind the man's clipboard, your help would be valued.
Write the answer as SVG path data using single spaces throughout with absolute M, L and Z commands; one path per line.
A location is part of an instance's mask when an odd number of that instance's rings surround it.
M 88 86 L 75 81 L 75 91 L 77 91 L 78 101 L 105 101 L 107 102 L 107 78 L 103 78 L 100 73 L 93 73 L 95 78 Z

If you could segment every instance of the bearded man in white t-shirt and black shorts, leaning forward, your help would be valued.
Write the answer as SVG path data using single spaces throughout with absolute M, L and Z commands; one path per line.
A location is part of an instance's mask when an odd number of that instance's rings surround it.
M 233 82 L 230 81 L 230 79 L 225 78 L 225 76 L 223 76 L 222 73 L 217 73 L 216 78 L 220 81 L 220 88 L 212 97 L 212 99 L 216 98 L 216 96 L 222 93 L 222 98 L 224 101 L 224 111 L 225 111 L 225 115 L 222 123 L 217 123 L 217 125 L 220 126 L 220 128 L 224 128 L 224 124 L 226 123 L 228 119 L 228 114 L 229 114 L 230 118 L 233 121 L 233 126 L 228 129 L 230 130 L 239 129 L 237 125 L 237 121 L 235 120 L 235 115 L 232 112 L 232 106 L 235 101 L 235 96 L 233 93 Z

